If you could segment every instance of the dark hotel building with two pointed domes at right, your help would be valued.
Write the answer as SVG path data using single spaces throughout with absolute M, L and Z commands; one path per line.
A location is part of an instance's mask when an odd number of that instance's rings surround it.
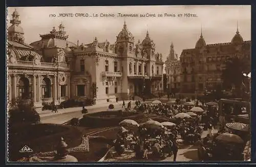
M 227 43 L 206 44 L 203 34 L 194 49 L 185 49 L 180 56 L 180 93 L 202 95 L 205 91 L 222 86 L 222 69 L 233 56 L 251 61 L 251 41 L 244 41 L 237 32 Z M 234 76 L 235 77 L 235 76 Z

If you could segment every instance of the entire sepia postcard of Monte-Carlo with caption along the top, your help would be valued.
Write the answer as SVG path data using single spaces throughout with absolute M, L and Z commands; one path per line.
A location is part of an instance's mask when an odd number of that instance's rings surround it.
M 251 160 L 251 6 L 6 19 L 7 162 Z

